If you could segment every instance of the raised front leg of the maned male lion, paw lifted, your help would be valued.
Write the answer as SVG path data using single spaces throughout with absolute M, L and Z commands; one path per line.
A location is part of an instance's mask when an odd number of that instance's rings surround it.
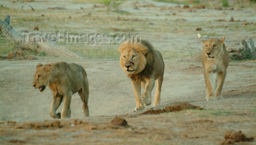
M 142 102 L 145 105 L 150 105 L 151 104 L 151 92 L 155 86 L 155 79 L 154 78 L 150 78 L 150 79 L 145 79 L 146 80 L 146 88 L 145 91 L 143 92 L 141 98 L 142 98 Z

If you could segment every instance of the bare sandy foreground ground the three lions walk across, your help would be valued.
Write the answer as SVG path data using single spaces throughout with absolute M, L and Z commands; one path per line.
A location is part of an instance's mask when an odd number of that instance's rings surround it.
M 224 111 L 224 114 L 186 111 L 139 115 L 153 106 L 133 112 L 136 103 L 131 82 L 119 67 L 118 60 L 66 59 L 63 61 L 75 62 L 87 71 L 90 117 L 83 117 L 82 102 L 78 94 L 74 94 L 71 119 L 57 120 L 58 126 L 49 115 L 50 89 L 41 93 L 31 86 L 35 66 L 39 62 L 46 64 L 57 60 L 1 61 L 0 142 L 219 144 L 229 130 L 242 130 L 249 137 L 256 136 L 256 112 L 253 111 L 256 108 L 255 61 L 231 62 L 223 87 L 224 99 L 208 102 L 204 100 L 205 85 L 200 63 L 165 61 L 162 106 L 158 108 L 189 102 L 206 110 Z M 131 127 L 110 125 L 116 116 L 126 119 Z M 73 119 L 81 123 L 75 124 Z M 255 144 L 255 141 L 245 144 Z

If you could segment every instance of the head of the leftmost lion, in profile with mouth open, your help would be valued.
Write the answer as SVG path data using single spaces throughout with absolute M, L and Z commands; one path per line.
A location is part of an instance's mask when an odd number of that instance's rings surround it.
M 45 90 L 45 87 L 49 85 L 51 77 L 51 71 L 53 68 L 53 64 L 48 65 L 42 65 L 38 64 L 36 67 L 36 72 L 34 74 L 34 81 L 32 83 L 32 86 L 35 89 L 39 89 L 40 92 L 43 92 Z

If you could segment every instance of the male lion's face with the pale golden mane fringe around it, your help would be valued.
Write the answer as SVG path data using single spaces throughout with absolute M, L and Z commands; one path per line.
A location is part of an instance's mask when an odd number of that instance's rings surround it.
M 128 74 L 141 72 L 146 66 L 147 48 L 141 43 L 123 43 L 118 48 L 121 51 L 120 65 Z

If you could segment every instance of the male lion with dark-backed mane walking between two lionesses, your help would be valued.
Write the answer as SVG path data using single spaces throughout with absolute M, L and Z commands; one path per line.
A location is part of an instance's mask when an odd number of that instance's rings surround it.
M 143 110 L 145 105 L 151 104 L 151 92 L 157 80 L 154 106 L 160 105 L 161 87 L 165 64 L 162 54 L 145 40 L 140 42 L 122 43 L 118 51 L 121 52 L 120 66 L 131 78 L 137 110 Z M 141 95 L 141 85 L 145 90 Z

